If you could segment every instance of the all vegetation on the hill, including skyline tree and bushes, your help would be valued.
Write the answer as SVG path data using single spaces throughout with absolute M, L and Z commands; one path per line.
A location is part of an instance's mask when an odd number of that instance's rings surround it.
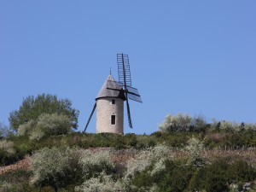
M 0 167 L 0 191 L 256 189 L 255 124 L 179 113 L 151 135 L 82 134 L 77 117 L 71 102 L 50 95 L 10 113 L 15 129 L 0 125 L 0 166 L 25 158 L 30 166 Z

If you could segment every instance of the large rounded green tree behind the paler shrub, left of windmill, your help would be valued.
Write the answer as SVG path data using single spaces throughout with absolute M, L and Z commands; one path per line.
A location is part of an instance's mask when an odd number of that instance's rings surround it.
M 72 102 L 68 99 L 58 99 L 57 96 L 42 94 L 36 97 L 27 96 L 23 100 L 19 110 L 9 114 L 10 125 L 17 130 L 20 125 L 30 120 L 38 119 L 42 113 L 66 114 L 72 119 L 73 128 L 78 128 L 79 110 L 72 108 Z

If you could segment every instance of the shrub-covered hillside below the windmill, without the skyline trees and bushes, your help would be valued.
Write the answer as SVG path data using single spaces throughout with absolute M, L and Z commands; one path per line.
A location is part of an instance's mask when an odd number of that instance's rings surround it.
M 0 189 L 241 191 L 248 186 L 253 191 L 255 143 L 253 131 L 74 132 L 40 140 L 13 135 L 0 141 Z

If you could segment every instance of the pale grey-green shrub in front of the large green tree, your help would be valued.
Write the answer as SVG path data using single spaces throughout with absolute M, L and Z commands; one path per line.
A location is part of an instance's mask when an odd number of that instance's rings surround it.
M 44 136 L 67 134 L 72 131 L 72 121 L 64 114 L 43 113 L 37 120 L 30 120 L 18 128 L 19 136 L 28 136 L 32 140 L 39 140 Z

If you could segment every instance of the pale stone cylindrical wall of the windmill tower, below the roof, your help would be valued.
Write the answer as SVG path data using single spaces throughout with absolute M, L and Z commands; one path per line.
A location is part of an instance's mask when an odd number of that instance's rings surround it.
M 115 99 L 115 104 L 112 104 Z M 111 115 L 115 115 L 115 125 L 111 125 Z M 101 98 L 96 100 L 96 133 L 124 133 L 124 100 Z

